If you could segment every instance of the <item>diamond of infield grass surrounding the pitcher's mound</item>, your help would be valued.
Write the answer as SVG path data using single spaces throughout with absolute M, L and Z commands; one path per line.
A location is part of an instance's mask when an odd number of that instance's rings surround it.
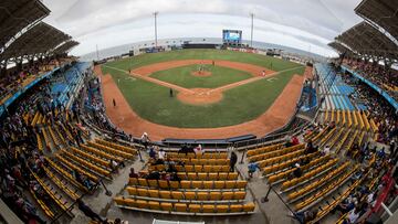
M 216 88 L 252 77 L 248 72 L 222 66 L 207 65 L 205 70 L 211 72 L 211 76 L 193 76 L 192 72 L 198 71 L 198 65 L 189 65 L 159 71 L 153 73 L 150 77 L 186 88 Z

